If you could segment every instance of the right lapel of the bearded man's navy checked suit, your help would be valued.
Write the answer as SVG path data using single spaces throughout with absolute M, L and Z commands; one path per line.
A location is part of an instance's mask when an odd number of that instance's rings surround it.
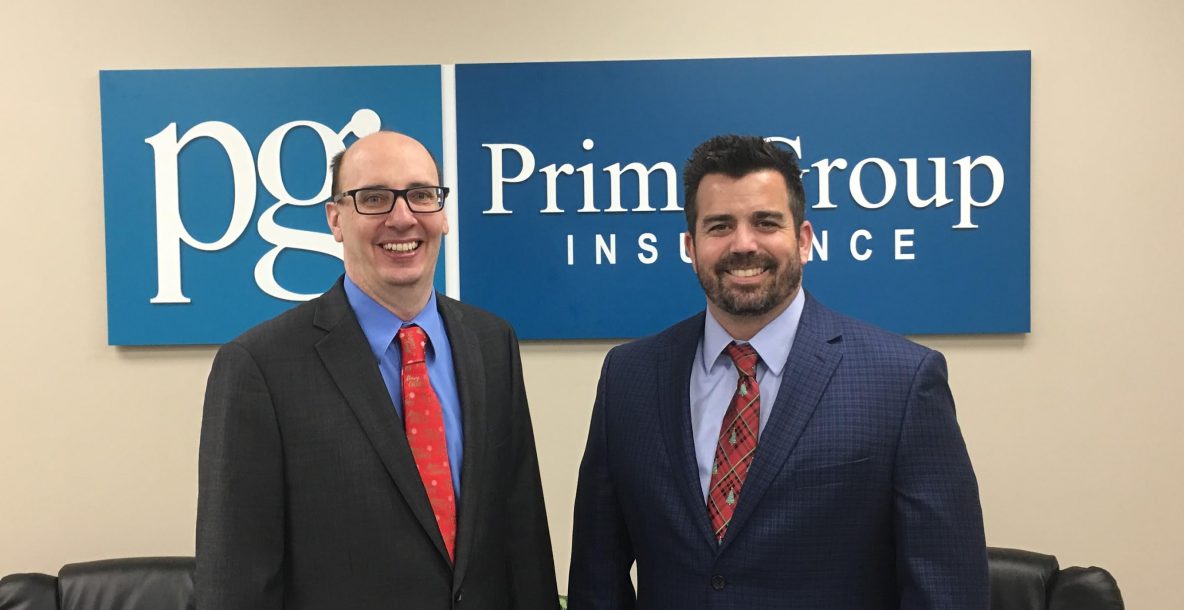
M 842 333 L 830 312 L 806 294 L 797 338 L 781 373 L 777 403 L 760 434 L 740 503 L 728 524 L 728 533 L 720 551 L 736 538 L 733 534 L 745 526 L 797 445 L 835 368 L 843 359 L 841 338 Z

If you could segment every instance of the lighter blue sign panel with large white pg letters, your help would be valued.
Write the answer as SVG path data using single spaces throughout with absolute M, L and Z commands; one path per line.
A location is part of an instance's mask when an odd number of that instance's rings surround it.
M 439 66 L 104 71 L 99 89 L 112 345 L 223 342 L 324 291 L 332 155 L 380 128 L 443 145 Z

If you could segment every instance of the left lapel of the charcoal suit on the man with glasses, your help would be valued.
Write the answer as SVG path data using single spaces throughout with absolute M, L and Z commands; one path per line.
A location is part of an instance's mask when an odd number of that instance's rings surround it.
M 316 352 L 329 371 L 346 403 L 354 411 L 382 465 L 403 494 L 411 513 L 448 561 L 448 551 L 432 514 L 427 493 L 407 445 L 403 422 L 391 403 L 369 343 L 346 298 L 339 281 L 317 304 L 313 323 L 328 332 L 316 343 Z M 462 399 L 463 399 L 462 393 Z

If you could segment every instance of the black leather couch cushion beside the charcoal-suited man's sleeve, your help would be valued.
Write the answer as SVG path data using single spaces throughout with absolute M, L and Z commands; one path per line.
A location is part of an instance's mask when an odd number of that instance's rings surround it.
M 58 572 L 58 591 L 63 610 L 192 610 L 193 558 L 69 564 Z

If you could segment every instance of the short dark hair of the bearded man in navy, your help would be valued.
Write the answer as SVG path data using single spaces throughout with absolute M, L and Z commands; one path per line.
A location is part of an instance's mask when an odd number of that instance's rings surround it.
M 703 176 L 725 174 L 729 178 L 744 178 L 761 169 L 774 169 L 785 178 L 790 193 L 790 213 L 793 214 L 793 230 L 800 231 L 806 216 L 806 193 L 802 186 L 798 155 L 760 136 L 728 134 L 718 135 L 696 146 L 682 171 L 686 195 L 683 210 L 690 235 L 695 235 L 695 221 L 699 218 L 699 203 L 695 199 L 699 197 L 699 184 L 703 181 Z

